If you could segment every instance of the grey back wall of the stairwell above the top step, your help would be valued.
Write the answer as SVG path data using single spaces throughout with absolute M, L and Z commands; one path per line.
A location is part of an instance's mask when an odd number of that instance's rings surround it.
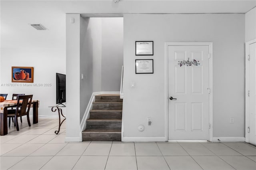
M 101 91 L 120 91 L 123 30 L 123 18 L 102 18 Z

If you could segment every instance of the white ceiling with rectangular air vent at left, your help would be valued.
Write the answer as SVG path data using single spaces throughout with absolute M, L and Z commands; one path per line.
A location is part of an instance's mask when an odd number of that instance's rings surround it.
M 246 13 L 256 0 L 1 0 L 1 48 L 66 47 L 66 13 L 122 16 L 127 13 Z M 42 24 L 38 31 L 28 24 Z

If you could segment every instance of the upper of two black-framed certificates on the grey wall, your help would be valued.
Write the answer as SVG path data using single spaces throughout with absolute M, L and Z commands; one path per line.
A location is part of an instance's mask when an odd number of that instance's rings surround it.
M 135 55 L 153 55 L 153 41 L 136 41 Z

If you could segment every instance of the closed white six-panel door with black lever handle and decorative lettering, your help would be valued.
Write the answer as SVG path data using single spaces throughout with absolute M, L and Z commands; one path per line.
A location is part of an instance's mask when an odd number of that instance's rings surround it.
M 209 45 L 167 50 L 168 140 L 209 140 Z

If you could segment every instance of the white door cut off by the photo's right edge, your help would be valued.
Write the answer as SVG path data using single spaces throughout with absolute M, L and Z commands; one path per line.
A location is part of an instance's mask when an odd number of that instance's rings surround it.
M 249 44 L 248 58 L 248 119 L 249 126 L 247 128 L 249 133 L 249 143 L 256 144 L 256 42 Z

